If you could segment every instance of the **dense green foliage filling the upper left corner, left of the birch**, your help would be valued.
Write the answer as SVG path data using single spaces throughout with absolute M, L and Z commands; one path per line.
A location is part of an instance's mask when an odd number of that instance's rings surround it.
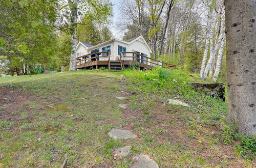
M 51 62 L 55 54 L 56 1 L 7 1 L 0 6 L 0 55 L 9 71 Z M 3 60 L 3 59 L 2 59 Z

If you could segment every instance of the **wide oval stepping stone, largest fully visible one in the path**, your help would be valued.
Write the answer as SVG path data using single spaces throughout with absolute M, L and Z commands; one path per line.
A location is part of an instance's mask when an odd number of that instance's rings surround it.
M 109 132 L 110 137 L 116 139 L 129 139 L 129 138 L 136 138 L 137 135 L 133 134 L 131 131 L 128 130 L 121 130 L 121 129 L 112 129 Z

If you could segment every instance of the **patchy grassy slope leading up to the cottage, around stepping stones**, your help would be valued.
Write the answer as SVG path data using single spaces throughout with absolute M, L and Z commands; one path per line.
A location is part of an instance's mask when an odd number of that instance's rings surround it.
M 0 164 L 59 167 L 67 153 L 70 166 L 126 167 L 132 155 L 147 153 L 162 167 L 238 166 L 233 158 L 242 160 L 240 153 L 221 136 L 227 105 L 185 83 L 194 80 L 177 70 L 2 77 L 0 86 L 22 93 L 15 108 L 0 108 Z M 167 98 L 191 107 L 167 105 Z M 118 103 L 130 107 L 121 110 Z M 129 129 L 139 138 L 113 141 L 112 128 Z M 126 145 L 132 145 L 132 154 L 114 160 L 113 150 Z

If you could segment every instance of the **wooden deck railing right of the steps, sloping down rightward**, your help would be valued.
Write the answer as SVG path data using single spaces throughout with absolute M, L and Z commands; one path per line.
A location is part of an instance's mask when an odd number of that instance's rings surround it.
M 132 54 L 132 56 L 126 56 L 126 54 Z M 176 67 L 176 65 L 164 63 L 162 61 L 158 61 L 158 60 L 146 57 L 145 55 L 139 54 L 137 52 L 121 52 L 120 61 L 138 61 L 139 63 L 150 65 L 150 66 L 156 66 L 156 67 L 160 66 L 160 67 L 167 67 L 167 68 L 173 68 L 173 69 L 175 69 Z

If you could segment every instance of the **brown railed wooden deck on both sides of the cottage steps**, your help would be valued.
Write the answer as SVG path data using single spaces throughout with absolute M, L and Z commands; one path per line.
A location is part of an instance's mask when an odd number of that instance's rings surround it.
M 98 55 L 108 52 L 94 52 L 81 57 L 76 58 L 76 69 L 98 69 L 100 67 L 105 67 L 110 69 L 110 53 L 108 57 L 100 57 Z M 128 56 L 127 54 L 132 54 Z M 91 58 L 88 56 L 96 55 Z M 135 57 L 136 56 L 136 57 Z M 100 61 L 104 58 L 104 61 Z M 138 54 L 136 52 L 121 52 L 120 62 L 123 68 L 129 67 L 136 62 L 139 63 L 139 66 L 143 69 L 153 69 L 153 67 L 166 67 L 169 69 L 175 69 L 176 66 L 162 61 L 157 61 L 151 58 L 146 57 L 145 55 Z M 154 66 L 152 66 L 154 65 Z

